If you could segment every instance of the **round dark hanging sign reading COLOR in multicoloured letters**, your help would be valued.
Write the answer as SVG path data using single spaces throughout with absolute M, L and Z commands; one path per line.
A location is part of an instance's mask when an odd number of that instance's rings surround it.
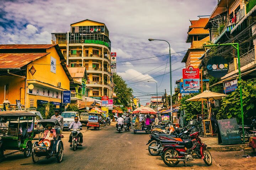
M 207 72 L 216 78 L 221 78 L 228 73 L 229 64 L 224 57 L 214 56 L 207 62 Z

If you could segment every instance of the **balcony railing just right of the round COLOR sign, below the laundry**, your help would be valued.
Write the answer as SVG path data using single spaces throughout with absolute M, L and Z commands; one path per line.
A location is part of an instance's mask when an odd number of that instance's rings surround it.
M 255 50 L 251 49 L 250 51 L 246 52 L 244 55 L 240 57 L 240 67 L 246 66 L 250 64 L 255 59 Z M 238 68 L 238 64 L 236 64 L 236 68 Z M 234 61 L 229 63 L 229 70 L 228 73 L 233 72 L 235 70 Z

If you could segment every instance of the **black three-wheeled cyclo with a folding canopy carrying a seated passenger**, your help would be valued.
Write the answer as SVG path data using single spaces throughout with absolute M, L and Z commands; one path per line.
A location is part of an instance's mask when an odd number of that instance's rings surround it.
M 32 160 L 34 163 L 37 163 L 39 157 L 46 157 L 49 159 L 50 157 L 56 157 L 57 161 L 60 163 L 62 162 L 63 158 L 63 142 L 61 140 L 62 135 L 60 134 L 60 125 L 57 119 L 44 119 L 39 122 L 43 127 L 44 130 L 48 128 L 48 125 L 52 125 L 53 129 L 56 131 L 56 137 L 53 139 L 52 146 L 50 141 L 45 139 L 39 138 L 39 141 L 33 143 L 32 146 Z M 38 135 L 39 136 L 39 135 Z

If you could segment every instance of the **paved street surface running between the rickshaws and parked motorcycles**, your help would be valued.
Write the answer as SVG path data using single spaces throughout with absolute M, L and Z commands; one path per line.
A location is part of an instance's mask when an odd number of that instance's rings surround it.
M 57 163 L 55 158 L 40 158 L 37 164 L 32 158 L 24 158 L 22 153 L 7 155 L 4 162 L 0 163 L 1 170 L 119 170 L 119 169 L 254 169 L 256 158 L 241 158 L 242 152 L 211 152 L 213 165 L 206 166 L 203 160 L 196 159 L 183 163 L 175 168 L 167 167 L 162 159 L 148 153 L 145 143 L 149 137 L 142 132 L 133 134 L 133 131 L 117 133 L 113 126 L 108 126 L 99 131 L 83 130 L 83 147 L 73 151 L 69 147 L 69 132 L 64 132 L 63 162 Z

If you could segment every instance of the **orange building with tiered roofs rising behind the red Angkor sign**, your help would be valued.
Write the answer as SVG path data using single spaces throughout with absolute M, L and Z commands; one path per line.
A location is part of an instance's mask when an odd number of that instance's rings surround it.
M 191 26 L 188 28 L 188 36 L 186 42 L 191 43 L 191 47 L 183 57 L 183 63 L 188 66 L 198 68 L 201 61 L 199 58 L 204 54 L 203 44 L 207 43 L 209 38 L 209 30 L 204 29 L 209 18 L 199 18 L 198 20 L 190 21 Z

